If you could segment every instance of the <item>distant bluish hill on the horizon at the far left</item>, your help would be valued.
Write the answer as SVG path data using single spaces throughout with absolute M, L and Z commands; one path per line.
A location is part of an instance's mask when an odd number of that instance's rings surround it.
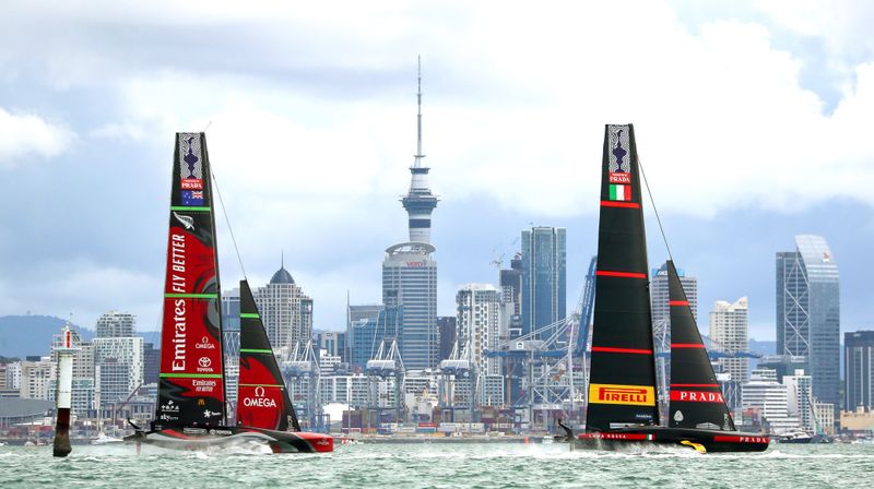
M 54 315 L 1 315 L 0 356 L 24 358 L 31 355 L 48 355 L 51 336 L 60 333 L 64 320 Z M 84 339 L 94 332 L 73 324 Z

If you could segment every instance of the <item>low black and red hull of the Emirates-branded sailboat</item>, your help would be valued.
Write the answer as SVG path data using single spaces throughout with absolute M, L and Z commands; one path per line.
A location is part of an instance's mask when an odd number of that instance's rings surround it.
M 178 427 L 138 431 L 125 437 L 126 443 L 143 443 L 170 450 L 206 450 L 246 443 L 258 443 L 273 453 L 332 452 L 333 438 L 310 432 L 274 431 L 251 427 Z

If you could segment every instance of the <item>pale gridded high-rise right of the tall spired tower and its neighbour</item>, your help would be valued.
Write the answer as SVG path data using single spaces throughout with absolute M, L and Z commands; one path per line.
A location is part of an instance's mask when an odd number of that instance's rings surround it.
M 487 358 L 486 350 L 498 346 L 498 314 L 500 295 L 488 284 L 462 285 L 456 294 L 457 329 L 459 348 L 469 348 L 480 375 L 500 373 L 498 358 Z M 503 395 L 497 396 L 503 398 Z

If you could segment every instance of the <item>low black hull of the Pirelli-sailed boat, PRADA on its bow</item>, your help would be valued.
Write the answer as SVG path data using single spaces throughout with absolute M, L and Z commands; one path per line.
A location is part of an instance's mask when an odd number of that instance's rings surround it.
M 668 446 L 682 446 L 701 453 L 724 453 L 764 452 L 768 449 L 769 439 L 740 431 L 648 427 L 581 433 L 574 443 L 586 450 L 659 451 Z

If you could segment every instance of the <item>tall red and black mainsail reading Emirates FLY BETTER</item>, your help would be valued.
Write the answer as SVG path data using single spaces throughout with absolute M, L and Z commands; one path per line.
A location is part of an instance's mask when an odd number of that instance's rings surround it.
M 225 419 L 215 220 L 206 139 L 177 133 L 161 330 L 158 426 Z

